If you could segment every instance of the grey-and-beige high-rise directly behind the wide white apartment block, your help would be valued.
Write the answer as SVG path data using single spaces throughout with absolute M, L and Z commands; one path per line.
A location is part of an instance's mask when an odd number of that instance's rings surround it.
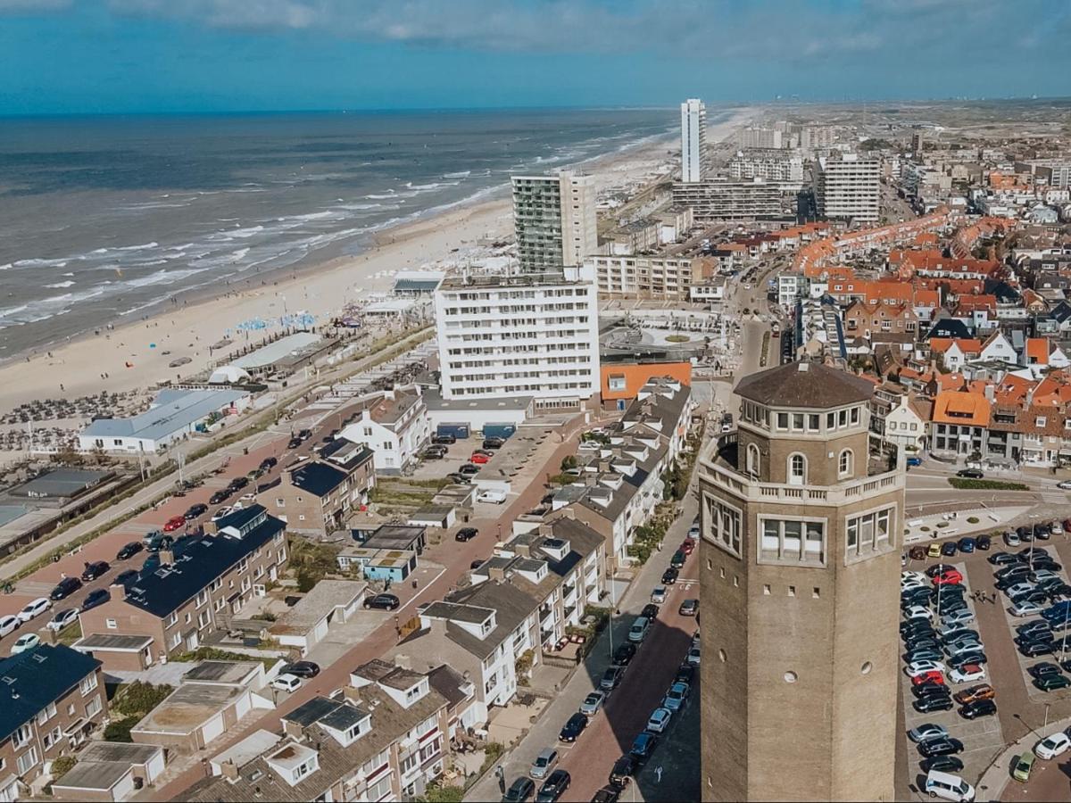
M 583 264 L 599 248 L 594 178 L 570 170 L 514 176 L 513 226 L 522 271 Z

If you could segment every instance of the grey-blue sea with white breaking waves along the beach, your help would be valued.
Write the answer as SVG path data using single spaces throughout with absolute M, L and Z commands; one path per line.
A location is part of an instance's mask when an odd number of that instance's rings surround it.
M 669 109 L 0 120 L 0 360 L 664 137 Z

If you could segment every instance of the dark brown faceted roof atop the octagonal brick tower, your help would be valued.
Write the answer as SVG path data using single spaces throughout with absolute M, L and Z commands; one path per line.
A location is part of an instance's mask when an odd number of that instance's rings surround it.
M 795 362 L 744 377 L 736 393 L 760 405 L 820 410 L 866 402 L 874 385 L 821 363 Z

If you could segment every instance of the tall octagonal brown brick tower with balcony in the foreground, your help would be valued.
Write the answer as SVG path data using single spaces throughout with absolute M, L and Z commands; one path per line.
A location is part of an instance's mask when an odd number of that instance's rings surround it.
M 903 463 L 873 385 L 789 363 L 700 459 L 703 799 L 892 800 Z

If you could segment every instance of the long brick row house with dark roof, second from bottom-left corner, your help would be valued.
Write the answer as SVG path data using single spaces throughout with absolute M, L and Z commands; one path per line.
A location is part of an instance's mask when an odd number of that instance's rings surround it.
M 285 521 L 254 504 L 178 541 L 160 552 L 157 567 L 120 587 L 122 596 L 82 612 L 75 649 L 125 670 L 196 650 L 209 634 L 231 630 L 245 604 L 278 580 L 289 557 L 285 531 Z

